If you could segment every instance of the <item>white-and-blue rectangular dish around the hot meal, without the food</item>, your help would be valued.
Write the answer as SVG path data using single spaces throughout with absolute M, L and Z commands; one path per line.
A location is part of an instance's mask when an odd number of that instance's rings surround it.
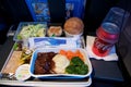
M 31 60 L 31 69 L 29 69 L 29 73 L 33 77 L 36 78 L 84 78 L 84 77 L 88 77 L 93 71 L 92 69 L 92 64 L 91 61 L 87 57 L 87 53 L 84 49 L 82 48 L 64 48 L 63 50 L 70 50 L 72 52 L 80 50 L 81 54 L 83 55 L 84 59 L 84 63 L 87 65 L 88 67 L 88 72 L 84 75 L 79 75 L 79 74 L 34 74 L 34 70 L 35 70 L 35 61 L 37 59 L 37 54 L 39 52 L 55 52 L 58 53 L 61 50 L 61 48 L 44 48 L 44 49 L 36 49 L 32 55 L 32 60 Z

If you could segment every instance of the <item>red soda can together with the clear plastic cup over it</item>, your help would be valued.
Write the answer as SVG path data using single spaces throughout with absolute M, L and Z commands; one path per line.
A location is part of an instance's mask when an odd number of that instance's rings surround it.
M 110 49 L 119 39 L 130 13 L 120 8 L 111 8 L 96 32 L 96 39 L 93 45 L 93 52 L 98 57 L 109 54 Z

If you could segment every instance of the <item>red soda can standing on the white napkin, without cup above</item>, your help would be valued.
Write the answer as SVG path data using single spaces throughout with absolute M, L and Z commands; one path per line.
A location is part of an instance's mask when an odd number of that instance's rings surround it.
M 119 27 L 112 23 L 104 23 L 96 32 L 96 39 L 93 45 L 93 52 L 98 57 L 108 55 L 110 49 L 118 41 Z

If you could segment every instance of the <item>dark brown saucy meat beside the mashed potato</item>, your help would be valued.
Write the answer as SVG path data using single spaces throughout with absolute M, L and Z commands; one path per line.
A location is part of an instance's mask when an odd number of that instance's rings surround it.
M 35 62 L 35 74 L 50 74 L 55 63 L 52 58 L 56 55 L 55 52 L 38 52 Z

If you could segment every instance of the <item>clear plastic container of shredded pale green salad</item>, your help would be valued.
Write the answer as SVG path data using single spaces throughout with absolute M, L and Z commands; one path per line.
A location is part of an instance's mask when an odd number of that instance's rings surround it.
M 21 22 L 13 40 L 23 41 L 23 39 L 28 39 L 29 37 L 45 37 L 46 28 L 46 22 Z

